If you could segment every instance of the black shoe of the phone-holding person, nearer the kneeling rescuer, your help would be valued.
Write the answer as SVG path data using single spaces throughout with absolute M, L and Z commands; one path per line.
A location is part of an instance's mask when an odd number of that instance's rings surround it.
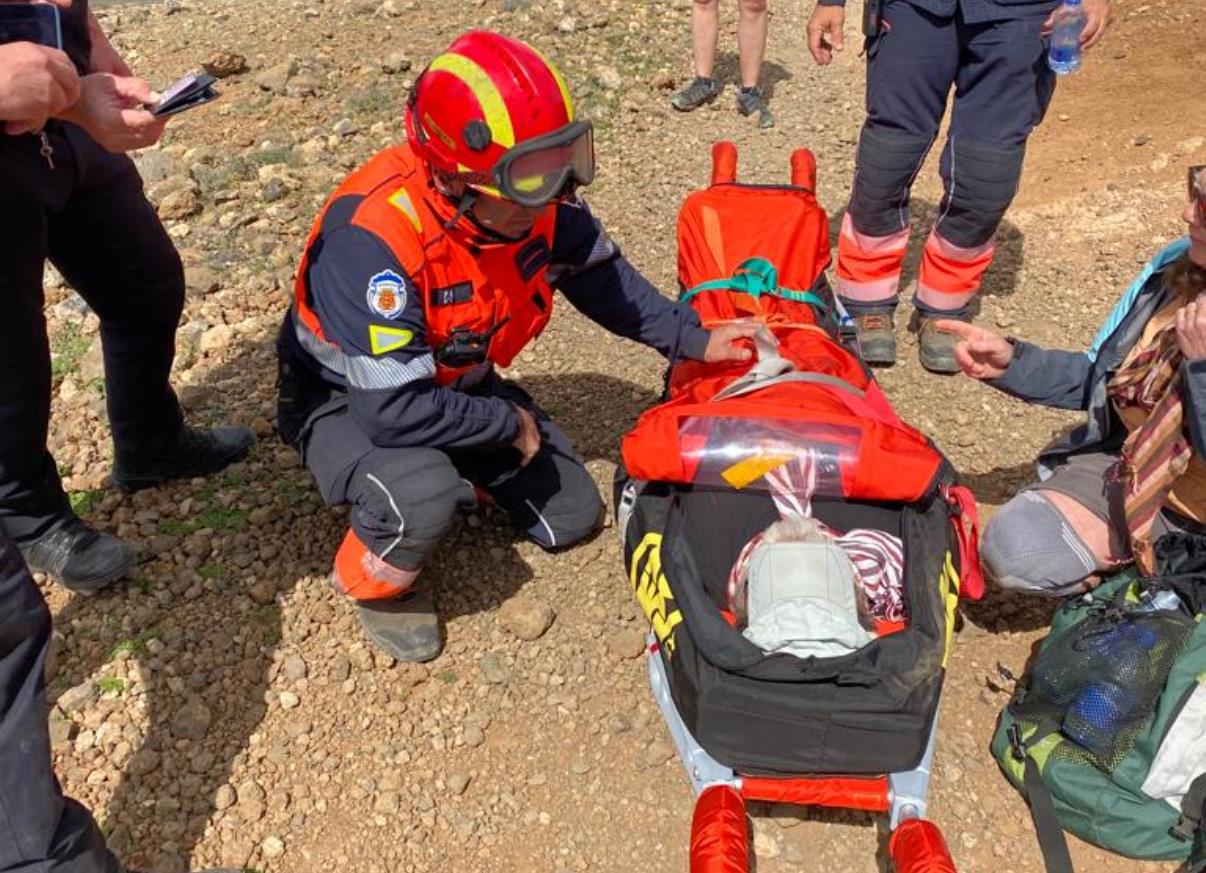
M 152 488 L 172 479 L 207 476 L 246 457 L 256 435 L 245 427 L 201 428 L 185 424 L 165 449 L 154 455 L 113 459 L 113 485 L 127 493 Z

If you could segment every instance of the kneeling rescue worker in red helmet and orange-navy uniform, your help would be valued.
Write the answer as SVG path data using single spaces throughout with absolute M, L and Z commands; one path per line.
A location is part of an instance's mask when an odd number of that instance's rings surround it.
M 549 323 L 554 289 L 672 359 L 745 359 L 753 328 L 709 333 L 620 254 L 575 197 L 595 177 L 591 124 L 531 47 L 461 36 L 405 124 L 310 234 L 279 340 L 280 429 L 323 499 L 352 508 L 333 581 L 365 633 L 427 661 L 440 628 L 420 569 L 475 488 L 544 549 L 602 521 L 566 434 L 494 370 Z

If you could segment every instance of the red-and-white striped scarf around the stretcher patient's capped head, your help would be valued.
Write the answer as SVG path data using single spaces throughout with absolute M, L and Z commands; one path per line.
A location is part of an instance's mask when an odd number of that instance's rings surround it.
M 804 452 L 791 463 L 767 473 L 766 480 L 781 517 L 813 517 L 816 463 L 812 452 Z M 901 539 L 870 528 L 851 528 L 843 534 L 820 522 L 818 526 L 833 538 L 854 564 L 871 615 L 889 622 L 904 621 L 904 544 Z M 742 580 L 750 557 L 761 543 L 762 534 L 755 534 L 742 549 L 728 573 L 728 608 L 734 615 L 744 611 L 737 608 Z

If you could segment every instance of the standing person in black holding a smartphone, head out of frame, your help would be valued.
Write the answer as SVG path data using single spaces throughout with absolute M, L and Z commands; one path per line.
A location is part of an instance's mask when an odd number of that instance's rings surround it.
M 30 5 L 0 2 L 0 22 L 17 7 Z M 183 421 L 169 385 L 183 269 L 124 154 L 154 143 L 165 121 L 87 0 L 58 7 L 60 47 L 0 45 L 0 526 L 30 567 L 94 592 L 124 576 L 134 552 L 75 515 L 47 451 L 47 259 L 100 318 L 117 487 L 213 473 L 253 436 Z

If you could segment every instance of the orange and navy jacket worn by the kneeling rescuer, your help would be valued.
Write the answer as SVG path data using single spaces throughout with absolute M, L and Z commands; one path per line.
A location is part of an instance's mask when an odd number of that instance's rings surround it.
M 344 392 L 374 444 L 511 443 L 510 403 L 474 388 L 544 329 L 554 289 L 672 361 L 703 357 L 698 316 L 637 273 L 585 204 L 550 205 L 526 239 L 497 242 L 445 229 L 437 197 L 405 145 L 349 176 L 315 222 L 282 327 L 281 355 Z M 458 330 L 490 333 L 484 362 L 439 363 Z

